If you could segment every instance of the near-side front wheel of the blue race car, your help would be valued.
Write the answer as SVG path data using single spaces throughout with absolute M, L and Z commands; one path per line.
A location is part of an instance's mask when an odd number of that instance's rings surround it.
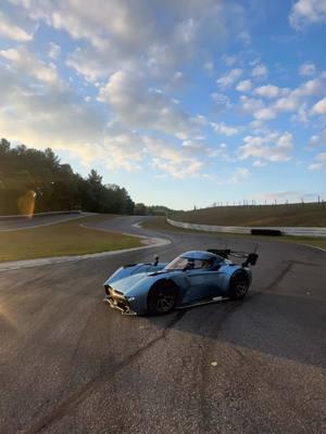
M 177 299 L 177 288 L 174 282 L 158 282 L 148 295 L 148 310 L 152 315 L 164 315 L 173 310 Z

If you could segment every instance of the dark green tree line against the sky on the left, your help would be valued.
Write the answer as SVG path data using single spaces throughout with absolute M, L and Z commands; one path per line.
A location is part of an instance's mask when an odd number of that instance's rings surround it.
M 1 139 L 0 215 L 25 214 L 32 202 L 35 213 L 83 209 L 134 214 L 137 210 L 125 188 L 103 184 L 96 170 L 84 178 L 68 164 L 61 164 L 50 148 L 40 151 L 24 144 L 11 146 Z

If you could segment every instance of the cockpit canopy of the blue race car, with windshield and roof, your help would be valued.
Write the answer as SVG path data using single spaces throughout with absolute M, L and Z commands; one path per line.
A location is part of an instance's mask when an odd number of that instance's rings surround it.
M 224 260 L 222 257 L 209 252 L 186 252 L 167 264 L 165 270 L 211 270 L 222 260 Z

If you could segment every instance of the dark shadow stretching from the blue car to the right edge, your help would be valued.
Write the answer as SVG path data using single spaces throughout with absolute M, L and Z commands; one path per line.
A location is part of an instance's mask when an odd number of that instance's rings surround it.
M 308 296 L 251 292 L 243 301 L 224 301 L 148 317 L 151 327 L 325 367 L 325 302 Z M 166 334 L 167 334 L 166 333 Z M 324 337 L 323 337 L 324 336 Z

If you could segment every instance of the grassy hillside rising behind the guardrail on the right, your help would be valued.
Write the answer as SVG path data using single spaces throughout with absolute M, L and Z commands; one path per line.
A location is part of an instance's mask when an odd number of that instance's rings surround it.
M 216 206 L 170 217 L 199 225 L 326 227 L 326 204 Z

